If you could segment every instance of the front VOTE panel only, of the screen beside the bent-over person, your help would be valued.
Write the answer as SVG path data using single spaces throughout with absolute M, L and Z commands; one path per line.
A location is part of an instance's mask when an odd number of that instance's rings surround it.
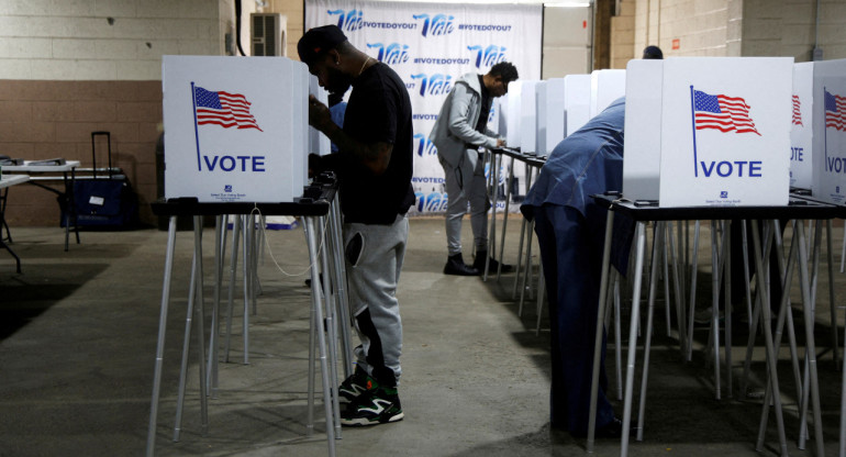
M 792 57 L 664 62 L 659 204 L 784 205 Z

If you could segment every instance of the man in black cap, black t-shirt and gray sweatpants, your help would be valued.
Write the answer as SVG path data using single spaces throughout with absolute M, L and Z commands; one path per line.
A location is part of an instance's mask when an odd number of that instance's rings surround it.
M 400 421 L 402 323 L 396 292 L 407 213 L 414 203 L 411 100 L 397 73 L 355 48 L 335 25 L 309 30 L 297 51 L 321 87 L 335 93 L 353 87 L 343 129 L 323 103 L 309 98 L 309 123 L 338 147 L 336 154 L 310 155 L 309 168 L 338 177 L 349 305 L 361 339 L 356 370 L 338 388 L 350 403 L 341 423 Z

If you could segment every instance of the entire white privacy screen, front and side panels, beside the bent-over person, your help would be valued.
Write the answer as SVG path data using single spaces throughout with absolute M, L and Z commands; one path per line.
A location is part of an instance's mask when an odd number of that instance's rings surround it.
M 786 57 L 630 63 L 624 196 L 653 200 L 657 189 L 668 208 L 787 204 L 792 79 Z

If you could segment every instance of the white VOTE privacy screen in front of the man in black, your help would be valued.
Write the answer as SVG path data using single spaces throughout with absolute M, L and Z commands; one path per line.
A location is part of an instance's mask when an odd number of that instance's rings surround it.
M 286 57 L 164 56 L 165 197 L 281 202 L 308 181 L 310 75 Z

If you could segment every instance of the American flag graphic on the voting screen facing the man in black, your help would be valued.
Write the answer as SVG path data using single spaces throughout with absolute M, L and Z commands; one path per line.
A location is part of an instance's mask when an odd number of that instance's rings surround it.
M 249 113 L 252 103 L 241 93 L 213 92 L 197 86 L 194 98 L 199 125 L 215 124 L 224 129 L 257 129 L 264 132 Z

